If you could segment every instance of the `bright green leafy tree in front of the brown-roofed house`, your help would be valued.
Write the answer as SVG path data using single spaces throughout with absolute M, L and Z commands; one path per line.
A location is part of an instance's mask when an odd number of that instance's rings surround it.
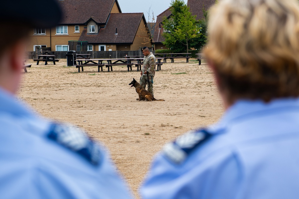
M 193 47 L 189 44 L 190 41 L 202 35 L 200 32 L 202 28 L 183 0 L 172 0 L 170 5 L 172 15 L 170 18 L 164 18 L 162 22 L 165 37 L 162 43 L 177 52 L 187 49 L 188 53 L 188 50 Z

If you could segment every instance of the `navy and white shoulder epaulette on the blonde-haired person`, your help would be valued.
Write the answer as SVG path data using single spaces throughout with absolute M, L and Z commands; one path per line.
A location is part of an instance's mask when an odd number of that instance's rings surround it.
M 188 155 L 211 137 L 205 129 L 190 131 L 164 146 L 164 155 L 174 163 L 182 163 Z

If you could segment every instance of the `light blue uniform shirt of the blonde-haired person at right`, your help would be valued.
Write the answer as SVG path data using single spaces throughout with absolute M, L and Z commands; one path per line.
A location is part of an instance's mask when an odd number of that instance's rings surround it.
M 299 100 L 238 101 L 222 120 L 167 144 L 144 199 L 299 198 Z

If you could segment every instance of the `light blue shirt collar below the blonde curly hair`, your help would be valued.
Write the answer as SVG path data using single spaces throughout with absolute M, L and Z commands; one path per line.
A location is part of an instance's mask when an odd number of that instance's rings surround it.
M 261 113 L 273 112 L 273 110 L 299 110 L 299 98 L 281 98 L 266 103 L 262 100 L 239 100 L 229 107 L 222 118 L 208 130 L 211 133 L 225 132 L 229 125 L 236 120 L 250 117 L 251 115 L 260 115 Z

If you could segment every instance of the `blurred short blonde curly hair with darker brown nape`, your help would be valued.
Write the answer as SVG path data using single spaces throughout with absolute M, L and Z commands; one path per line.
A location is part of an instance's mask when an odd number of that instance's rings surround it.
M 205 55 L 229 103 L 299 96 L 295 0 L 222 0 L 210 12 Z

